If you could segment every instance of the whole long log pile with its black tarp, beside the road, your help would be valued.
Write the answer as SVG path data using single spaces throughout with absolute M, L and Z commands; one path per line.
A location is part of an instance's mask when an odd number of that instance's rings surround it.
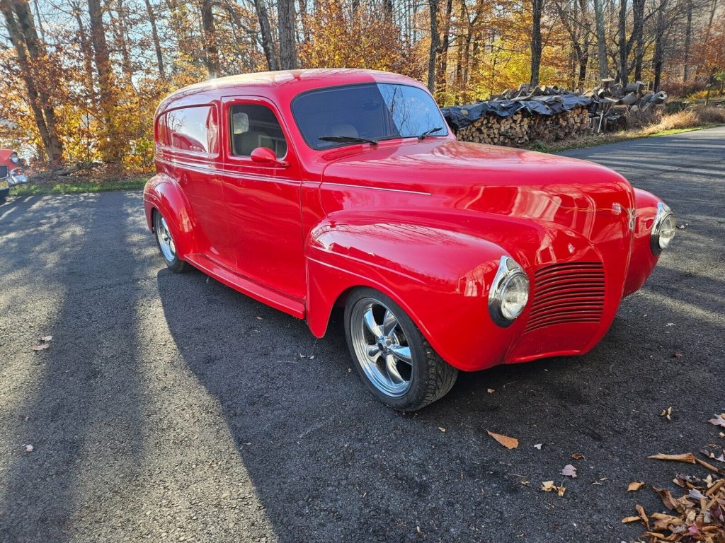
M 586 133 L 626 128 L 630 112 L 663 104 L 666 93 L 645 89 L 641 81 L 621 85 L 612 79 L 589 91 L 522 83 L 517 89 L 468 106 L 443 108 L 459 140 L 502 146 L 526 146 Z

